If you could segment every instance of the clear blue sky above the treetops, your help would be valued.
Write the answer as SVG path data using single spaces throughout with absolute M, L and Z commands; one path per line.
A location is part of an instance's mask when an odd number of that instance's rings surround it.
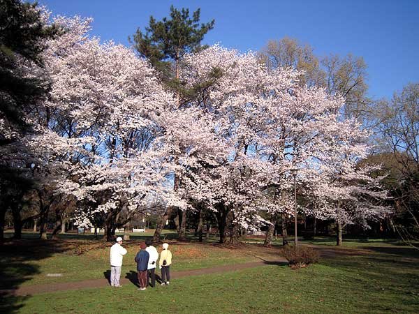
M 204 43 L 240 51 L 260 50 L 284 36 L 309 43 L 318 55 L 364 57 L 370 96 L 391 97 L 408 82 L 419 82 L 419 0 L 38 0 L 59 15 L 93 17 L 103 40 L 128 44 L 153 15 L 176 8 L 201 8 L 201 21 L 215 19 Z

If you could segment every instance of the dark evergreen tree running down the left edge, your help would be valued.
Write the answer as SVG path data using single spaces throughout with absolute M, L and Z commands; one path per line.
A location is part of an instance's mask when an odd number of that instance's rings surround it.
M 42 77 L 41 53 L 45 40 L 57 34 L 58 29 L 46 24 L 37 3 L 19 0 L 0 0 L 0 29 L 0 148 L 9 149 L 8 154 L 0 152 L 1 239 L 6 210 L 12 209 L 15 217 L 23 193 L 33 184 L 26 175 L 31 162 L 17 160 L 13 153 L 20 151 L 24 156 L 27 150 L 20 143 L 24 134 L 31 131 L 25 113 L 36 110 L 36 103 L 47 94 L 49 84 Z M 29 64 L 40 70 L 29 75 Z

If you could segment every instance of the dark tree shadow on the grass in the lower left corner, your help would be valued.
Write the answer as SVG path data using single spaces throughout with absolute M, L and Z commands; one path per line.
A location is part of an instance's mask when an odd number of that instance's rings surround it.
M 0 244 L 0 313 L 20 313 L 29 297 L 18 296 L 17 290 L 41 274 L 36 262 L 66 250 L 60 241 L 15 240 Z

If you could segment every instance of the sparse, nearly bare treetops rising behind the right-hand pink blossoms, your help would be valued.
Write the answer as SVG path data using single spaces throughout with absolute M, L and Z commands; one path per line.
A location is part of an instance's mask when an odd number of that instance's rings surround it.
M 367 65 L 362 57 L 352 54 L 318 57 L 313 47 L 288 37 L 268 41 L 259 55 L 270 68 L 302 70 L 300 84 L 324 87 L 331 95 L 344 96 L 346 117 L 364 121 L 370 111 L 372 100 L 367 97 Z

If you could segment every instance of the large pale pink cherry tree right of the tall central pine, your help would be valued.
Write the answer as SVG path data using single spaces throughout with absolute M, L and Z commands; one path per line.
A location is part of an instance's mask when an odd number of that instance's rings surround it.
M 345 144 L 355 160 L 365 156 L 365 147 L 362 151 L 356 142 L 345 142 L 360 139 L 362 131 L 355 121 L 339 116 L 344 99 L 300 86 L 297 71 L 270 70 L 251 53 L 217 46 L 191 54 L 185 63 L 189 68 L 183 71 L 184 80 L 191 86 L 209 80 L 215 71 L 221 73 L 191 104 L 213 115 L 219 123 L 213 133 L 228 146 L 219 165 L 200 172 L 210 186 L 207 202 L 219 217 L 221 233 L 228 216 L 234 229 L 261 209 L 287 212 L 291 206 L 282 192 L 290 190 L 291 168 L 300 167 L 300 176 L 314 180 L 325 167 L 325 152 L 341 160 Z M 267 193 L 272 188 L 273 193 Z

